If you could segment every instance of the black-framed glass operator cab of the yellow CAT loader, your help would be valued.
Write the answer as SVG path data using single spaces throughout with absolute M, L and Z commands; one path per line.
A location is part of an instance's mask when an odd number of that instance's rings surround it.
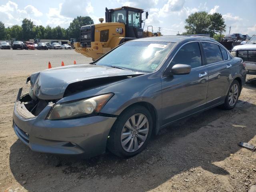
M 106 22 L 119 22 L 125 24 L 125 36 L 130 38 L 142 38 L 142 13 L 144 10 L 122 6 L 121 8 L 110 9 L 106 8 Z M 148 18 L 148 12 L 146 12 Z

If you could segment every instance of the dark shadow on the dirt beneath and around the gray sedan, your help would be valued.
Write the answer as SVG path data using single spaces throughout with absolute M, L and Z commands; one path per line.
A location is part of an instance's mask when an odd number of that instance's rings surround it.
M 254 104 L 239 101 L 230 111 L 213 108 L 180 120 L 162 129 L 142 153 L 129 159 L 108 152 L 90 159 L 42 154 L 17 140 L 10 148 L 10 169 L 29 191 L 73 191 L 78 186 L 86 191 L 147 191 L 197 167 L 229 175 L 217 164 L 240 149 L 238 142 L 255 136 L 256 126 L 248 124 L 255 109 Z

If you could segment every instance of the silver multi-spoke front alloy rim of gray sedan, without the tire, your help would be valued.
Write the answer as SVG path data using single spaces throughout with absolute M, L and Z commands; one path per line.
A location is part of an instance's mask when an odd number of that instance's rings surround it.
M 126 152 L 137 151 L 148 137 L 149 123 L 144 114 L 131 116 L 122 129 L 121 145 Z

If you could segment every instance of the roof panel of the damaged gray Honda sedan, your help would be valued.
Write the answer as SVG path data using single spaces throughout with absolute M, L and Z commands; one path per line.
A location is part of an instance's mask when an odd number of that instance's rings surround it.
M 180 41 L 191 41 L 191 40 L 209 40 L 214 42 L 215 40 L 209 37 L 203 36 L 180 36 L 180 35 L 172 35 L 172 36 L 158 36 L 158 37 L 146 37 L 146 38 L 139 38 L 132 41 L 156 41 L 156 42 L 173 42 L 177 43 Z

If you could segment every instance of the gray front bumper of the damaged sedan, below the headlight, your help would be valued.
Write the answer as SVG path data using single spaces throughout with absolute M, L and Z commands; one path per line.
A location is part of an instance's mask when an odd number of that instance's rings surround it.
M 92 116 L 70 120 L 46 120 L 49 104 L 33 118 L 24 118 L 14 106 L 13 128 L 18 138 L 33 151 L 54 154 L 85 154 L 88 157 L 105 152 L 109 131 L 116 118 Z M 20 111 L 19 111 L 20 112 Z

